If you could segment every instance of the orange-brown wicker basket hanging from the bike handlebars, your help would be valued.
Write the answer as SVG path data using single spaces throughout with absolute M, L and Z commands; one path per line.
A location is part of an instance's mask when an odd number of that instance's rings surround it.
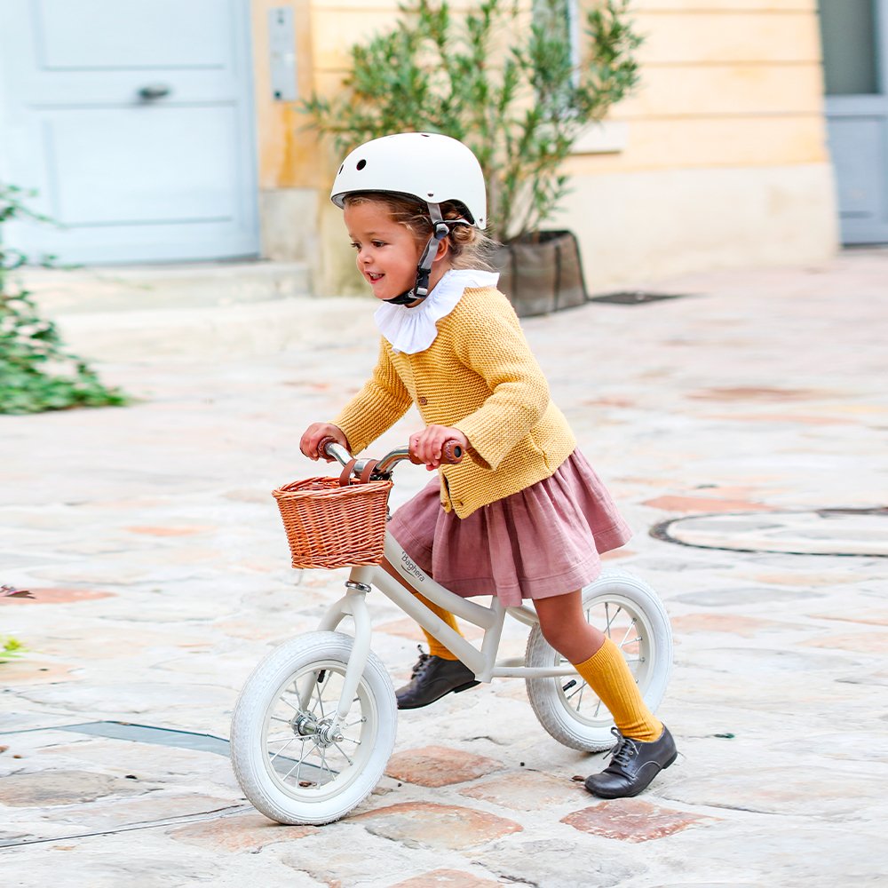
M 341 487 L 337 478 L 308 478 L 275 490 L 293 567 L 378 564 L 391 489 L 391 481 Z

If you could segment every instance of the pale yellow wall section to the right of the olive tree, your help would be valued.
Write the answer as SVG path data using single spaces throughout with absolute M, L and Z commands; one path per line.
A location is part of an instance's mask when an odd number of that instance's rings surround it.
M 816 0 L 636 0 L 641 83 L 575 155 L 559 226 L 590 289 L 828 257 L 838 240 Z

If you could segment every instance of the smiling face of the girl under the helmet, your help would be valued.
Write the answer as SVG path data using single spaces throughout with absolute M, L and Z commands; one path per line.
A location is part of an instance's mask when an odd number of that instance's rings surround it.
M 346 206 L 345 227 L 357 255 L 358 271 L 377 299 L 392 299 L 416 282 L 416 266 L 424 243 L 407 226 L 395 222 L 382 203 L 366 202 Z M 439 263 L 440 265 L 440 263 Z M 440 278 L 432 268 L 432 285 Z

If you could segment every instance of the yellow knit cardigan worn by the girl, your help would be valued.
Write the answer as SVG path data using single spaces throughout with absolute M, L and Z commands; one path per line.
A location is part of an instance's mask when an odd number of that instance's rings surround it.
M 466 289 L 424 352 L 396 352 L 383 338 L 373 375 L 333 422 L 360 453 L 411 402 L 425 424 L 469 440 L 472 459 L 439 470 L 441 504 L 460 518 L 549 478 L 576 447 L 518 317 L 492 287 Z

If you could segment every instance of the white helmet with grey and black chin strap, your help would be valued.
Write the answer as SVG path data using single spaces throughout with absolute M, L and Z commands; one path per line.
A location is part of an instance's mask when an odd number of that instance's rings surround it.
M 428 296 L 432 259 L 452 227 L 487 225 L 487 195 L 478 158 L 458 139 L 437 132 L 399 132 L 355 148 L 339 167 L 330 200 L 341 209 L 346 195 L 361 191 L 415 197 L 428 206 L 432 218 L 432 237 L 416 268 L 416 284 L 386 300 L 395 305 Z M 440 204 L 447 201 L 462 203 L 467 218 L 442 218 Z

